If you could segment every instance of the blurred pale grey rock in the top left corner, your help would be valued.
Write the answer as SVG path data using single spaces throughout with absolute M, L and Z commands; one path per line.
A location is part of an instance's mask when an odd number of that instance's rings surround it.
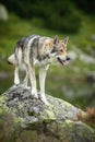
M 7 21 L 9 19 L 8 11 L 3 4 L 0 4 L 0 20 Z

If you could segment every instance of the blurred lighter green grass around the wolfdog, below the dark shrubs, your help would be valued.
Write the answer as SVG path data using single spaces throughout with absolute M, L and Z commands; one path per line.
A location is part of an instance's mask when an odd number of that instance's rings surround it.
M 95 43 L 91 40 L 91 36 L 94 35 L 95 32 L 95 19 L 85 15 L 82 15 L 82 27 L 76 34 L 64 34 L 41 26 L 39 27 L 34 25 L 32 21 L 21 20 L 12 13 L 10 14 L 9 21 L 0 22 L 0 72 L 10 74 L 10 78 L 7 79 L 7 81 L 3 79 L 0 81 L 0 93 L 4 92 L 13 83 L 13 67 L 7 63 L 7 58 L 12 54 L 16 40 L 23 36 L 38 34 L 55 37 L 55 35 L 59 35 L 60 38 L 63 38 L 69 35 L 69 50 L 72 49 L 72 46 L 76 46 L 91 55 L 86 47 L 90 46 L 95 50 Z M 75 71 L 76 69 L 79 69 L 78 72 Z M 85 97 L 75 96 L 76 92 L 81 88 L 83 90 L 83 87 L 85 87 L 85 90 L 90 87 L 90 90 L 95 92 L 93 86 L 85 82 L 86 71 L 94 72 L 95 66 L 85 64 L 84 62 L 76 60 L 63 68 L 61 66 L 50 67 L 46 81 L 46 93 L 67 99 L 76 106 L 85 107 L 91 105 L 88 102 L 90 97 L 86 97 L 85 99 Z M 69 93 L 64 94 L 63 92 L 64 87 L 71 92 L 73 90 L 74 97 L 69 98 L 69 96 L 67 96 Z

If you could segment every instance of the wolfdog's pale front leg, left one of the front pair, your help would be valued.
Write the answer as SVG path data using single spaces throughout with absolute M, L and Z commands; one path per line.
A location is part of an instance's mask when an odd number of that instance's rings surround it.
M 29 76 L 31 86 L 32 86 L 32 95 L 38 98 L 35 69 L 32 66 L 28 66 L 28 76 Z

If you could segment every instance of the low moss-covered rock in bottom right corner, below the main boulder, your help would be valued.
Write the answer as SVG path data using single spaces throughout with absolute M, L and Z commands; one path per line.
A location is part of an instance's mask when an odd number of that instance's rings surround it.
M 49 129 L 54 131 L 55 135 L 61 141 L 76 142 L 80 141 L 95 141 L 94 130 L 81 121 L 66 120 L 64 122 L 51 123 Z

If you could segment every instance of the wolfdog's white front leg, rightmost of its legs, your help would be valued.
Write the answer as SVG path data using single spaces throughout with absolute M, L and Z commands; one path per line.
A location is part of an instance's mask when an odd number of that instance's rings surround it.
M 48 67 L 43 67 L 39 69 L 39 86 L 40 86 L 40 98 L 41 100 L 48 105 L 46 95 L 45 95 L 45 80 Z

